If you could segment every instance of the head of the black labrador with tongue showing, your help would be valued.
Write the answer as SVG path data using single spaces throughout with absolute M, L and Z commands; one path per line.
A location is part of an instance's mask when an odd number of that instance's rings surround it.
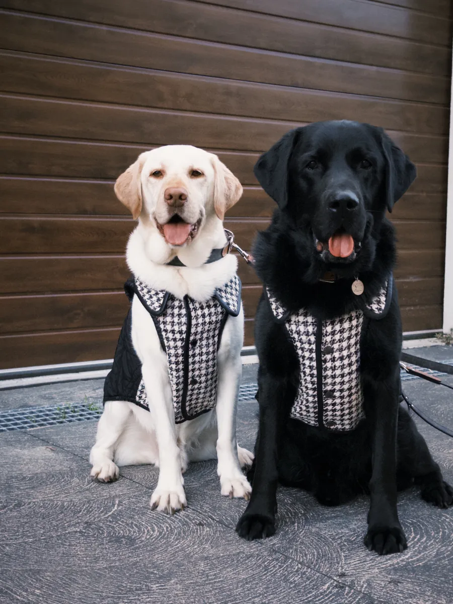
M 286 133 L 260 157 L 255 175 L 304 257 L 345 276 L 370 268 L 385 210 L 416 168 L 382 128 L 326 121 Z

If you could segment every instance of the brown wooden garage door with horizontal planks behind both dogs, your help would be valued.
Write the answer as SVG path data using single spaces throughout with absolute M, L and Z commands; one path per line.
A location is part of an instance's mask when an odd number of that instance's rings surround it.
M 144 149 L 219 153 L 246 249 L 272 211 L 252 174 L 286 130 L 383 126 L 419 178 L 393 214 L 405 330 L 442 325 L 449 0 L 1 0 L 0 366 L 111 358 Z M 260 286 L 241 263 L 246 343 Z

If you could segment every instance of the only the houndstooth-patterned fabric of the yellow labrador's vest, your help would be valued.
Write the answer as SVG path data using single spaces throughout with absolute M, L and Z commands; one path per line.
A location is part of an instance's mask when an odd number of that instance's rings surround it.
M 217 347 L 227 312 L 225 306 L 234 314 L 239 310 L 239 277 L 235 275 L 217 289 L 207 302 L 189 297 L 180 300 L 165 291 L 139 284 L 138 280 L 136 284 L 142 303 L 146 303 L 153 313 L 159 312 L 153 319 L 161 331 L 167 353 L 175 422 L 181 423 L 210 411 L 216 406 Z M 140 406 L 149 409 L 143 379 L 136 400 Z

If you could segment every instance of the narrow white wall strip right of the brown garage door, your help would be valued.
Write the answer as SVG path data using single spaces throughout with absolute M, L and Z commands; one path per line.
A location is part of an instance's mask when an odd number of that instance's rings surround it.
M 453 74 L 452 74 L 453 75 Z M 443 332 L 453 329 L 453 77 L 450 98 L 450 133 L 448 144 L 448 193 L 445 239 L 445 284 L 443 290 Z

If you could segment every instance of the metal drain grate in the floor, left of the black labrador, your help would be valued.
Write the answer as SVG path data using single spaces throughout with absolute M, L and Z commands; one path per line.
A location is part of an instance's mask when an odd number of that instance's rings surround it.
M 239 388 L 239 400 L 254 399 L 257 384 L 242 384 Z M 94 403 L 79 405 L 54 405 L 41 407 L 25 407 L 0 413 L 0 432 L 12 430 L 28 430 L 30 428 L 45 428 L 60 423 L 85 422 L 98 419 L 102 406 Z

